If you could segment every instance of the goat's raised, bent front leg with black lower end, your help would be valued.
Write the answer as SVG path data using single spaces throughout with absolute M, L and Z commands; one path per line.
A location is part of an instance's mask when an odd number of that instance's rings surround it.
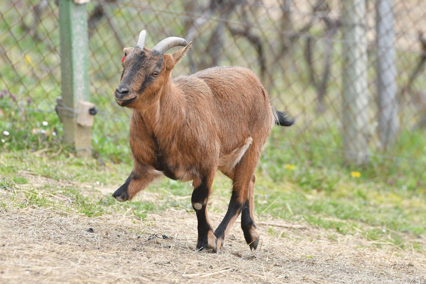
M 162 173 L 151 166 L 135 163 L 127 181 L 112 194 L 120 202 L 130 201 L 142 189 L 147 188 L 154 178 Z

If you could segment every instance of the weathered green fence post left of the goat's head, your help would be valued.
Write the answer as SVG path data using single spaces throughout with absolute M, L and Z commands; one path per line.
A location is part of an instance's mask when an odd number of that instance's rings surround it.
M 63 123 L 63 141 L 74 145 L 79 157 L 91 155 L 91 126 L 78 123 L 78 109 L 89 100 L 89 39 L 84 0 L 59 0 L 62 98 L 58 115 Z M 60 107 L 62 106 L 62 107 Z

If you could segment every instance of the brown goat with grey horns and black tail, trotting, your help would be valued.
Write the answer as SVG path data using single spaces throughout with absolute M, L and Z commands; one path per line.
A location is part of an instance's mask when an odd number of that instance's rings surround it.
M 254 171 L 272 126 L 291 126 L 293 120 L 271 106 L 259 79 L 242 67 L 213 67 L 172 80 L 171 70 L 191 43 L 168 37 L 148 49 L 145 36 L 142 31 L 135 48 L 124 49 L 123 73 L 115 90 L 117 103 L 133 109 L 134 168 L 112 196 L 131 200 L 161 175 L 192 180 L 197 250 L 217 252 L 240 213 L 245 240 L 256 249 Z M 185 47 L 164 54 L 174 46 Z M 217 169 L 232 179 L 233 188 L 225 218 L 214 230 L 207 201 Z

